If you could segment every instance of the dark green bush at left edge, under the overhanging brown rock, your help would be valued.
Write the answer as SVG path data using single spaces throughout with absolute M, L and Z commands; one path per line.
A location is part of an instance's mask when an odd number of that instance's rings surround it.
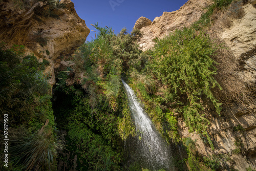
M 26 56 L 12 49 L 0 47 L 0 111 L 8 113 L 14 123 L 24 123 L 34 116 L 36 97 L 49 92 L 49 84 L 40 71 L 34 56 Z

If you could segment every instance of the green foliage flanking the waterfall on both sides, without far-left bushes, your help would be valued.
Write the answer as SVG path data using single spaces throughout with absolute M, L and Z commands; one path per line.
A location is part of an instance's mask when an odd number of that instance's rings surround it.
M 130 78 L 168 142 L 180 141 L 175 115 L 180 113 L 189 130 L 202 133 L 214 148 L 202 102 L 202 98 L 209 99 L 220 114 L 220 103 L 212 94 L 212 88 L 220 88 L 214 78 L 217 63 L 212 59 L 217 47 L 209 37 L 185 28 L 156 40 L 152 51 L 142 52 L 136 44 L 141 35 L 138 30 L 127 34 L 123 29 L 116 35 L 111 28 L 94 27 L 99 31 L 96 38 L 76 51 L 74 67 L 57 74 L 54 89 L 61 99 L 54 103 L 57 123 L 67 130 L 67 148 L 71 156 L 78 156 L 77 168 L 120 168 L 121 139 L 135 134 L 120 81 L 122 74 Z M 72 79 L 75 83 L 67 86 L 66 81 Z M 69 159 L 62 156 L 60 160 Z

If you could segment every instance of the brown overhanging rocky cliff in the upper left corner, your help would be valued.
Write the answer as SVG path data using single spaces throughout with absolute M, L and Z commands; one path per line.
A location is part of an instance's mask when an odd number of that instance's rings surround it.
M 2 1 L 0 30 L 0 39 L 7 45 L 24 45 L 26 54 L 50 62 L 45 73 L 51 84 L 55 83 L 55 60 L 72 54 L 90 33 L 70 0 Z

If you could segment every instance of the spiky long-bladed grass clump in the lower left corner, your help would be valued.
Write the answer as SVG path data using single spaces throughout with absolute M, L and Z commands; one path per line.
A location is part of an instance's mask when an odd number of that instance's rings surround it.
M 33 134 L 23 140 L 15 140 L 10 147 L 12 160 L 25 170 L 51 170 L 57 149 L 63 149 L 62 141 L 54 135 Z M 55 161 L 56 162 L 56 161 Z

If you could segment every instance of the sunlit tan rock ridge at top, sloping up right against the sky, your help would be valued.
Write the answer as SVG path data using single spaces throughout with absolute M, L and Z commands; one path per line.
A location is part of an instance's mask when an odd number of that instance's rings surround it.
M 143 37 L 139 41 L 140 47 L 143 50 L 152 48 L 154 45 L 152 40 L 154 38 L 162 38 L 175 29 L 189 26 L 200 18 L 201 14 L 205 12 L 205 8 L 211 2 L 210 0 L 189 0 L 177 11 L 163 12 L 160 17 L 156 17 L 153 20 L 151 25 L 140 28 L 143 34 Z

